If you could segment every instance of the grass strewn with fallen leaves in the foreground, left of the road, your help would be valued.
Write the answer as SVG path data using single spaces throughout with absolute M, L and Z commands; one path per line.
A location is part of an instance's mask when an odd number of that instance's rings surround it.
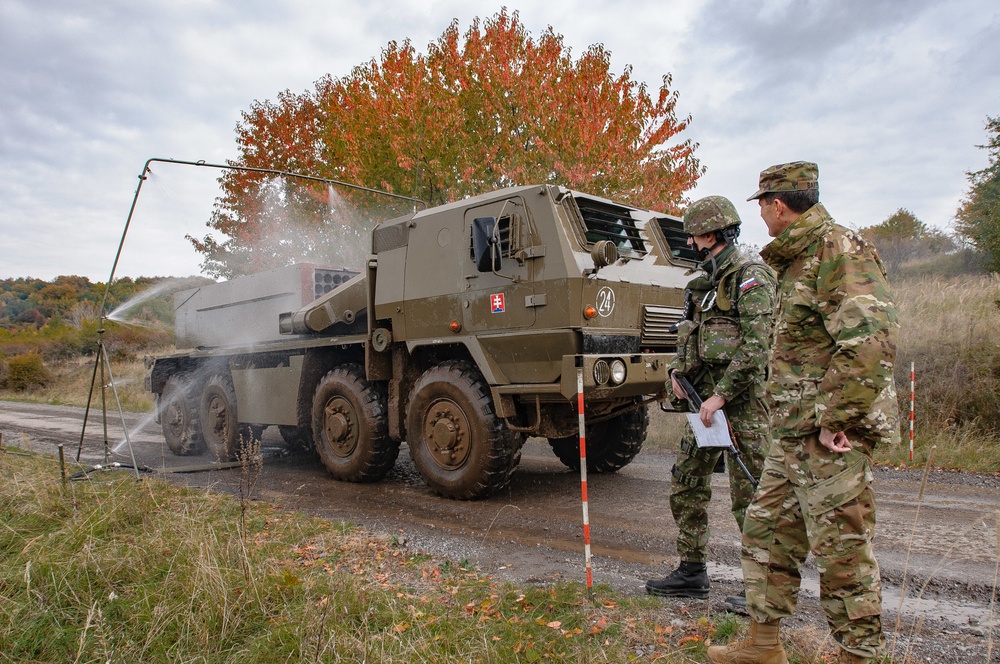
M 0 476 L 0 662 L 691 662 L 744 629 L 156 480 L 8 453 Z

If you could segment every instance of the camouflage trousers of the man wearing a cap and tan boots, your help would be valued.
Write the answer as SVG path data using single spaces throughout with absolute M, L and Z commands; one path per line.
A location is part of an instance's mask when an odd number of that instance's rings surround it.
M 823 447 L 818 433 L 772 442 L 743 526 L 743 581 L 754 620 L 790 616 L 799 569 L 812 552 L 833 637 L 846 650 L 876 657 L 885 639 L 872 551 L 872 448 L 848 437 L 854 449 L 844 453 Z

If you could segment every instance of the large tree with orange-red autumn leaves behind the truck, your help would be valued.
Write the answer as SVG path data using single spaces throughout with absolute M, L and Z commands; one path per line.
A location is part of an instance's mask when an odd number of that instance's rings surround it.
M 452 22 L 418 53 L 390 42 L 376 60 L 315 90 L 254 102 L 233 164 L 331 178 L 430 205 L 497 188 L 565 185 L 677 212 L 704 172 L 678 140 L 677 92 L 651 94 L 602 45 L 574 59 L 550 27 L 533 38 L 506 9 L 464 33 Z M 208 226 L 189 238 L 216 276 L 306 259 L 360 265 L 375 222 L 412 209 L 365 192 L 227 171 Z M 348 252 L 360 248 L 349 260 Z M 357 253 L 357 252 L 355 252 Z

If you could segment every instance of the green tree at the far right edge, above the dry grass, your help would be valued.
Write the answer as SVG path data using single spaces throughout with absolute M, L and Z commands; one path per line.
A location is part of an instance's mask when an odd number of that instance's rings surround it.
M 987 257 L 987 266 L 1000 271 L 1000 116 L 987 118 L 992 133 L 986 145 L 989 166 L 966 173 L 969 192 L 955 214 L 955 230 Z

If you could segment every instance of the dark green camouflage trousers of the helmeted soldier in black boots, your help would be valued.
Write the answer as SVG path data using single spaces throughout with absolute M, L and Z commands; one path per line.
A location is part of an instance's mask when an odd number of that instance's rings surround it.
M 766 421 L 766 413 L 761 417 L 759 408 L 752 410 L 750 404 L 742 408 L 727 407 L 726 411 L 737 430 L 743 463 L 754 477 L 760 477 L 768 444 L 767 425 L 760 421 Z M 699 448 L 690 425 L 685 429 L 670 484 L 670 511 L 677 524 L 677 554 L 682 561 L 703 563 L 708 558 L 712 471 L 724 453 L 724 449 L 717 447 Z M 728 470 L 733 516 L 742 530 L 743 515 L 753 498 L 753 484 L 731 459 Z

